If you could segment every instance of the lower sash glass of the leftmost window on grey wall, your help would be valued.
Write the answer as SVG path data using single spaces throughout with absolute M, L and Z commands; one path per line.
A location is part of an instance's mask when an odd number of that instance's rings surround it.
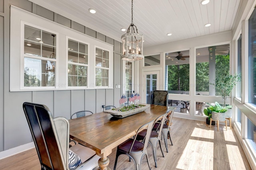
M 48 69 L 55 62 L 24 58 L 24 86 L 55 86 L 55 70 Z M 52 67 L 50 67 L 52 68 Z

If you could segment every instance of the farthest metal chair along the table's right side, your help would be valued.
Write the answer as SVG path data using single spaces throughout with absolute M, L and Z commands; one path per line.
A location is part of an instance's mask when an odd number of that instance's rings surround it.
M 173 110 L 170 110 L 167 114 L 166 114 L 166 119 L 165 119 L 165 123 L 163 125 L 163 128 L 162 128 L 162 136 L 164 137 L 164 144 L 165 144 L 165 147 L 166 147 L 166 152 L 168 152 L 168 138 L 170 139 L 171 141 L 171 145 L 172 144 L 172 139 L 171 139 L 171 135 L 170 135 L 170 126 L 172 125 L 172 117 L 173 117 L 173 114 L 174 114 L 174 109 Z M 153 127 L 153 130 L 157 129 L 159 126 L 159 123 L 155 123 L 154 127 Z

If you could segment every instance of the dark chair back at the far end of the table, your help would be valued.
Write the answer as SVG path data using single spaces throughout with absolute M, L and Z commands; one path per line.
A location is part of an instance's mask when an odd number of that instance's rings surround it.
M 152 95 L 151 104 L 167 106 L 168 105 L 168 92 L 164 90 L 154 90 Z

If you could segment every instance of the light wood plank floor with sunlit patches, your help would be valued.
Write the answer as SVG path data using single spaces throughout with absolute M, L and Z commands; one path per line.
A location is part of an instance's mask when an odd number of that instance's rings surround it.
M 173 117 L 171 137 L 173 145 L 168 141 L 169 152 L 166 152 L 164 141 L 162 157 L 157 150 L 158 168 L 154 166 L 152 149 L 148 146 L 148 156 L 152 170 L 250 170 L 250 165 L 234 130 L 226 131 L 224 125 L 217 127 L 206 125 L 202 121 Z M 116 149 L 112 150 L 109 168 L 113 169 Z M 35 149 L 0 160 L 1 170 L 40 170 L 40 163 Z M 117 170 L 134 170 L 134 163 L 128 156 L 118 158 Z M 146 157 L 142 160 L 142 170 L 148 170 Z

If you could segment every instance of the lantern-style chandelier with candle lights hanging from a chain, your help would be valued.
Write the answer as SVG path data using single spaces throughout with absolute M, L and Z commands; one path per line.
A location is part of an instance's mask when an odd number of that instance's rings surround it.
M 143 56 L 143 35 L 138 33 L 137 27 L 133 23 L 133 0 L 132 0 L 132 23 L 126 34 L 121 37 L 123 43 L 122 59 L 126 61 L 142 60 Z

